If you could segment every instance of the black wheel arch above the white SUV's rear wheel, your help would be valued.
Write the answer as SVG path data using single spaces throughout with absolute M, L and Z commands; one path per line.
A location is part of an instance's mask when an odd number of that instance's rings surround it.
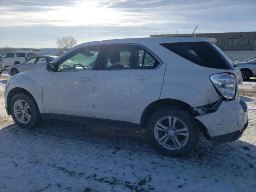
M 160 100 L 156 100 L 156 101 L 150 103 L 144 109 L 142 116 L 140 118 L 140 129 L 141 130 L 146 129 L 147 124 L 148 124 L 148 119 L 156 110 L 159 110 L 162 108 L 172 108 L 172 107 L 174 107 L 174 108 L 178 107 L 178 108 L 184 109 L 184 110 L 188 111 L 193 117 L 200 116 L 200 114 L 186 102 L 183 102 L 181 100 L 176 100 L 176 99 L 160 99 Z M 200 132 L 206 133 L 208 131 L 206 129 L 206 127 L 200 121 L 198 121 L 196 118 L 194 118 L 194 119 L 198 124 L 198 128 L 199 128 Z

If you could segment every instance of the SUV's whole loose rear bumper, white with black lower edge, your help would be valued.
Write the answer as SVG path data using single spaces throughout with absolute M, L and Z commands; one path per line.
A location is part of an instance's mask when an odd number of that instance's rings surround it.
M 248 110 L 244 101 L 222 101 L 218 110 L 196 116 L 206 129 L 213 145 L 237 140 L 248 125 Z

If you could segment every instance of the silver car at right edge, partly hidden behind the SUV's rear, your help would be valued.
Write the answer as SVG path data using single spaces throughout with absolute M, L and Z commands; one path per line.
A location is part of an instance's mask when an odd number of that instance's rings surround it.
M 242 77 L 244 80 L 248 80 L 251 77 L 256 76 L 256 58 L 253 58 L 247 62 L 240 62 L 238 65 L 242 73 Z

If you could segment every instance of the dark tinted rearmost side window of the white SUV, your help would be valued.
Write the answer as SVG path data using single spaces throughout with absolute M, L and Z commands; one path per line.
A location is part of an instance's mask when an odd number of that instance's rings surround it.
M 160 45 L 200 66 L 218 69 L 230 68 L 209 42 L 164 43 Z

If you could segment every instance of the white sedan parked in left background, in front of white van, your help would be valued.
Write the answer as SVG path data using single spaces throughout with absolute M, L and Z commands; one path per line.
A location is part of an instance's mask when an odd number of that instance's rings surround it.
M 16 65 L 10 66 L 8 69 L 8 74 L 12 76 L 23 71 L 42 68 L 46 65 L 46 63 L 51 62 L 55 58 L 56 56 L 35 56 L 32 58 L 29 58 L 28 60 L 24 61 L 22 64 L 16 64 Z

